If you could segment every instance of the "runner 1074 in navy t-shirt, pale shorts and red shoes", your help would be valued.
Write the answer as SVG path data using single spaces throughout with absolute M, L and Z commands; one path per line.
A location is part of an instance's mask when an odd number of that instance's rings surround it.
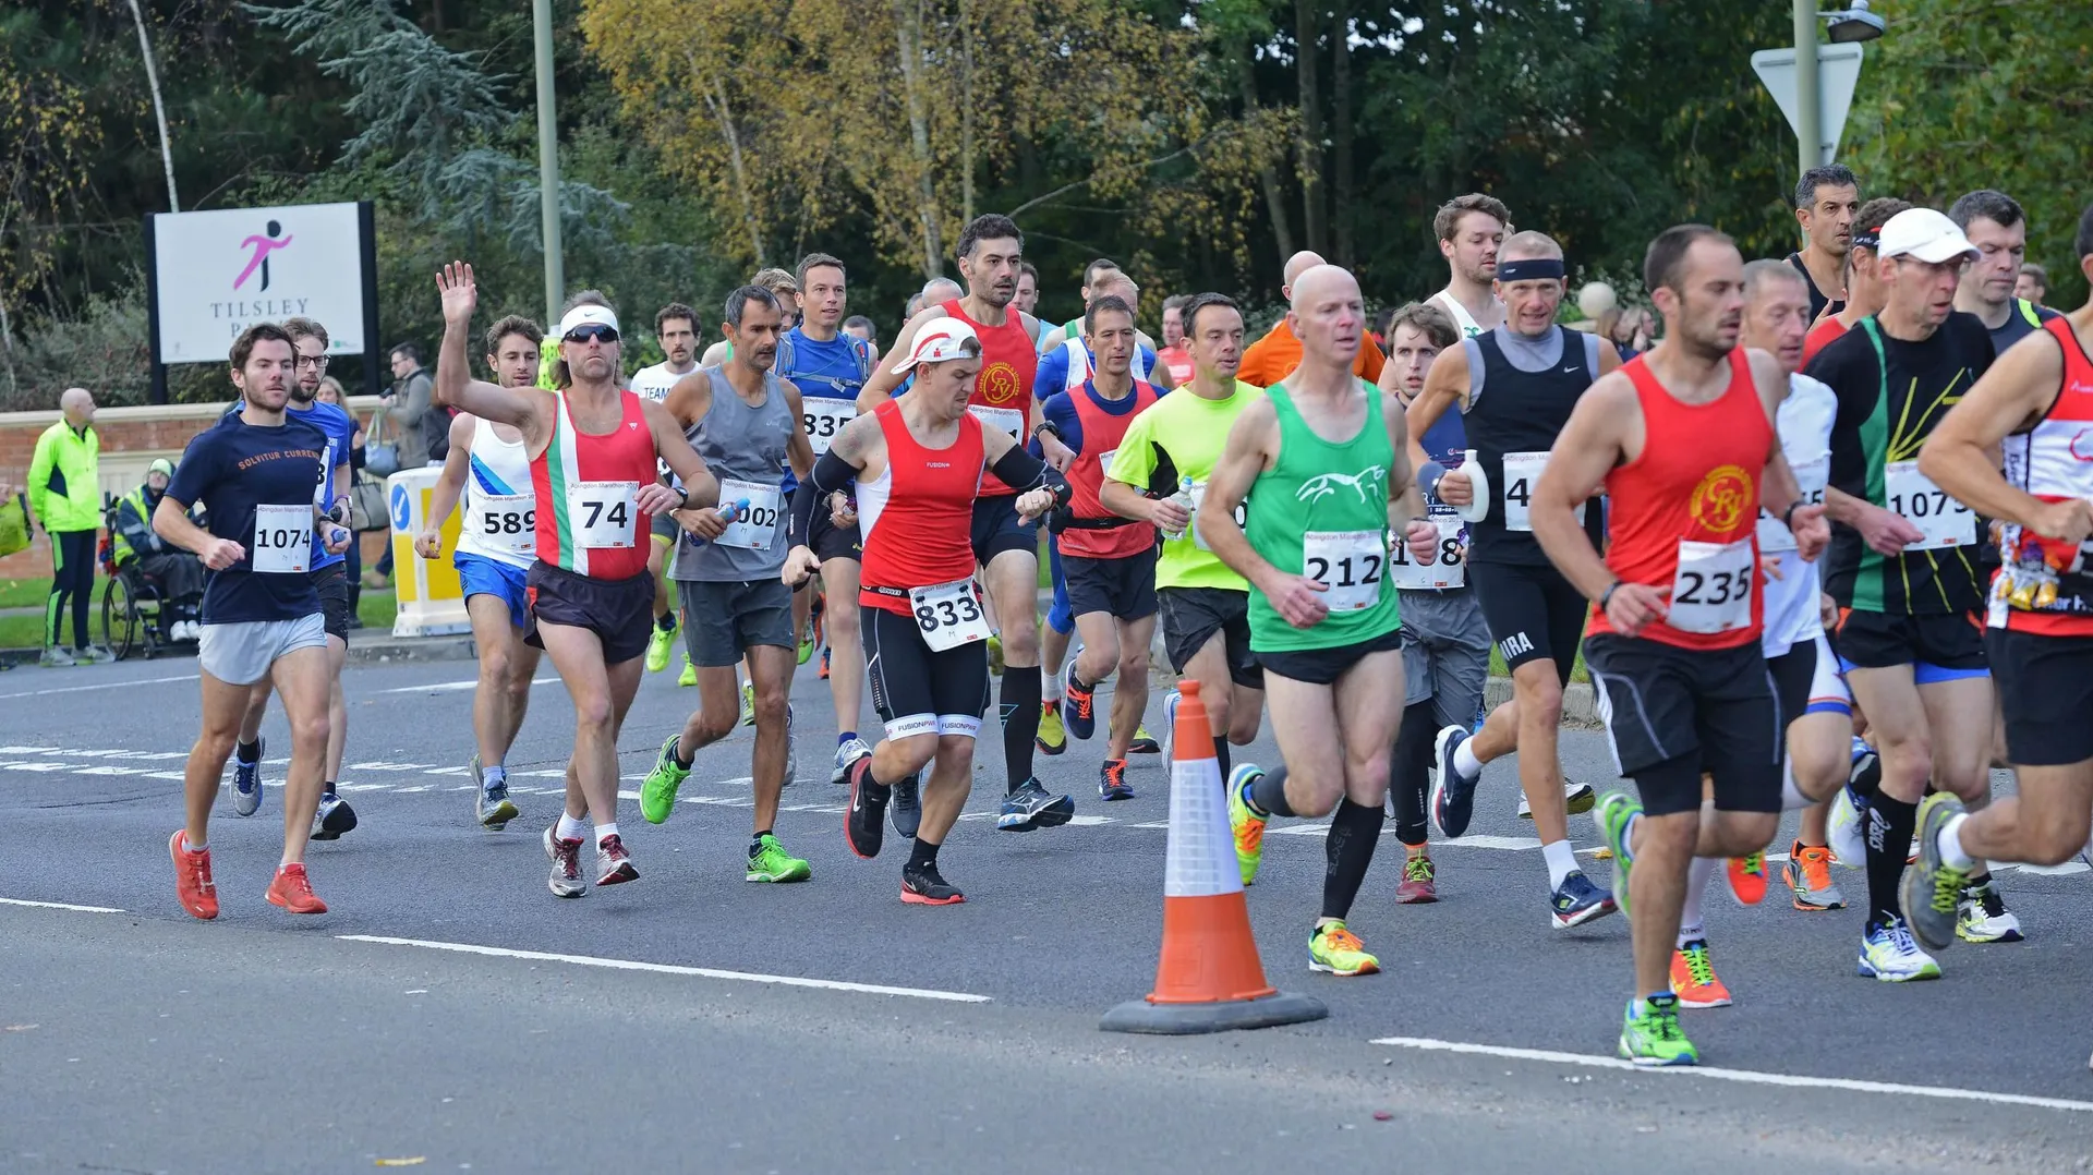
M 211 800 L 253 687 L 270 681 L 291 723 L 291 764 L 283 783 L 283 859 L 268 901 L 291 913 L 327 913 L 306 875 L 306 840 L 327 771 L 331 681 L 327 614 L 310 561 L 314 538 L 320 551 L 339 555 L 352 534 L 314 503 L 314 488 L 324 490 L 333 473 L 333 438 L 285 411 L 299 371 L 289 331 L 255 323 L 232 339 L 230 360 L 241 408 L 188 442 L 153 511 L 153 532 L 195 551 L 211 572 L 197 645 L 203 729 L 182 771 L 184 827 L 167 838 L 174 890 L 193 917 L 218 917 Z M 207 528 L 188 519 L 199 503 Z

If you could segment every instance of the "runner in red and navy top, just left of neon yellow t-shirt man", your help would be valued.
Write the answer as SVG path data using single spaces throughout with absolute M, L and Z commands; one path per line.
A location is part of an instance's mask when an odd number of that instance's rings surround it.
M 1074 498 L 1051 524 L 1067 572 L 1070 612 L 1082 633 L 1067 668 L 1061 720 L 1078 739 L 1097 733 L 1097 685 L 1118 668 L 1097 794 L 1130 800 L 1126 752 L 1149 702 L 1149 641 L 1155 637 L 1155 526 L 1128 522 L 1099 494 L 1128 425 L 1162 392 L 1132 375 L 1134 308 L 1126 300 L 1107 293 L 1090 302 L 1084 339 L 1097 350 L 1097 371 L 1072 394 L 1051 396 L 1040 425 L 1076 452 L 1067 467 Z

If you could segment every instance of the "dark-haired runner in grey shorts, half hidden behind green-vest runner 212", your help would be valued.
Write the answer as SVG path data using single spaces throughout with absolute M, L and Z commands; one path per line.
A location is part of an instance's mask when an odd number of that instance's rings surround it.
M 1488 199 L 1488 197 L 1486 197 Z M 1488 214 L 1471 214 L 1476 220 Z M 1490 270 L 1496 270 L 1492 245 Z M 1425 387 L 1432 360 L 1446 348 L 1461 346 L 1461 331 L 1442 302 L 1411 302 L 1388 323 L 1388 367 L 1381 369 L 1381 392 L 1394 394 L 1409 408 Z M 1461 465 L 1467 434 L 1461 417 L 1442 415 L 1432 434 L 1419 438 L 1427 459 L 1446 469 Z M 1402 601 L 1402 727 L 1388 762 L 1388 790 L 1394 798 L 1396 840 L 1402 842 L 1402 884 L 1396 901 L 1404 905 L 1438 901 L 1438 867 L 1432 863 L 1425 836 L 1425 808 L 1432 788 L 1432 737 L 1444 727 L 1473 727 L 1482 718 L 1482 689 L 1490 681 L 1490 626 L 1482 618 L 1476 593 L 1467 589 L 1467 526 L 1446 503 L 1425 496 L 1425 509 L 1438 528 L 1432 559 L 1411 559 L 1402 547 L 1390 553 L 1388 578 Z

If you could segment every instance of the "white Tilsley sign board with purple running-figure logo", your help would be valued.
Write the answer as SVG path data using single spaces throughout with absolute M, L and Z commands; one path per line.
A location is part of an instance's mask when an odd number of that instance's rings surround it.
M 362 258 L 356 203 L 155 214 L 159 362 L 224 362 L 241 331 L 291 316 L 362 354 Z

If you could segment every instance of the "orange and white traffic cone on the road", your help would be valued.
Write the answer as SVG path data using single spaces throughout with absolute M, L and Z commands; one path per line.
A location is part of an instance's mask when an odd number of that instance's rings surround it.
M 1321 1020 L 1329 1016 L 1321 1001 L 1264 982 L 1206 704 L 1197 681 L 1178 691 L 1155 991 L 1107 1012 L 1101 1028 L 1187 1035 Z

